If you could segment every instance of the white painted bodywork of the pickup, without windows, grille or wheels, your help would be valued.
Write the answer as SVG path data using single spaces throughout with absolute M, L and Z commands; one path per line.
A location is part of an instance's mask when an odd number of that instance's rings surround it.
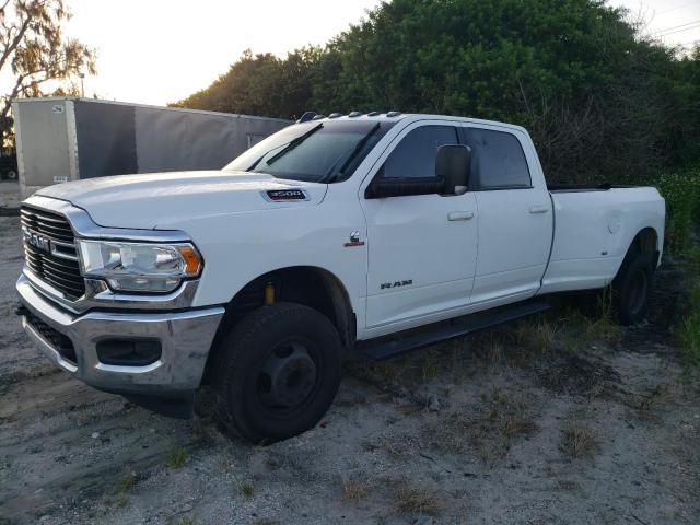
M 180 172 L 94 178 L 39 194 L 83 208 L 103 226 L 187 233 L 205 259 L 195 306 L 225 304 L 253 279 L 276 269 L 325 269 L 348 293 L 358 339 L 535 294 L 603 287 L 644 228 L 655 230 L 661 252 L 664 201 L 654 188 L 555 192 L 552 198 L 523 128 L 441 116 L 397 120 L 342 183 Z M 400 137 L 425 124 L 512 132 L 525 151 L 533 188 L 364 199 Z M 285 188 L 303 188 L 308 200 L 270 202 L 261 195 Z M 530 213 L 537 207 L 546 211 Z M 450 221 L 453 212 L 472 217 Z M 365 244 L 346 247 L 355 230 Z M 412 284 L 381 288 L 402 280 Z

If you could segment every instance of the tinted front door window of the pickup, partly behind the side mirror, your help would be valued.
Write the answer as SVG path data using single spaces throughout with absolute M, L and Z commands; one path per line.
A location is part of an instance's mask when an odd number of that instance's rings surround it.
M 384 163 L 384 178 L 435 176 L 438 148 L 458 144 L 457 130 L 452 126 L 423 126 L 401 139 Z

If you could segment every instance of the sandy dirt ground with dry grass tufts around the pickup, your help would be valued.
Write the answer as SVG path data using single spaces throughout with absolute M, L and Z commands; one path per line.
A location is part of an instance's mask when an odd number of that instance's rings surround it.
M 700 388 L 668 325 L 568 307 L 381 363 L 349 361 L 323 422 L 258 447 L 55 369 L 14 310 L 0 218 L 0 524 L 697 524 Z

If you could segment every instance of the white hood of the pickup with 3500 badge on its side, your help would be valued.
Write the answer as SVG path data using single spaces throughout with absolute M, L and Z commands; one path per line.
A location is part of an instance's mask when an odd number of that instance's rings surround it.
M 183 219 L 319 203 L 326 184 L 262 173 L 208 171 L 98 177 L 48 186 L 37 195 L 67 200 L 107 228 L 155 229 Z M 272 201 L 267 191 L 302 189 L 306 200 Z

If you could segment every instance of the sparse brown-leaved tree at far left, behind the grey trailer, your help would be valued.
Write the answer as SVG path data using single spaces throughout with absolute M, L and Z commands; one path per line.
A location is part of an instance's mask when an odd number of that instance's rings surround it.
M 11 133 L 10 107 L 19 96 L 40 96 L 51 80 L 94 74 L 94 50 L 67 38 L 71 14 L 63 0 L 5 0 L 0 5 L 0 75 L 9 92 L 0 96 L 2 140 Z

